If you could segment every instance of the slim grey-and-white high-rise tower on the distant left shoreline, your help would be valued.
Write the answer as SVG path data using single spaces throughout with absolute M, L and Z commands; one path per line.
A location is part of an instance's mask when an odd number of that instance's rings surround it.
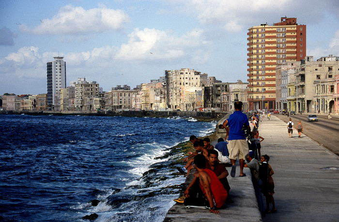
M 54 109 L 55 95 L 60 89 L 66 88 L 66 62 L 63 57 L 53 57 L 53 62 L 47 63 L 47 104 Z

